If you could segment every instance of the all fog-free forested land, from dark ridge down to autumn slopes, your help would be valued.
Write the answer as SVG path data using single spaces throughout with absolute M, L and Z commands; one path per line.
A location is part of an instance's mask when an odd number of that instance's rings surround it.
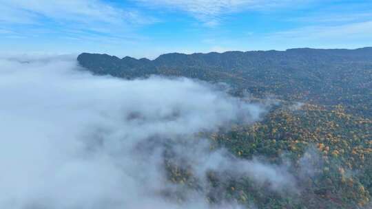
M 368 208 L 372 196 L 372 48 L 285 52 L 164 54 L 117 58 L 81 54 L 94 74 L 120 78 L 185 76 L 227 83 L 235 96 L 275 104 L 262 121 L 205 134 L 211 149 L 287 163 L 296 192 L 273 191 L 249 178 L 210 173 L 209 201 L 258 208 Z M 171 157 L 172 158 L 172 157 Z M 172 162 L 172 161 L 170 161 Z M 169 163 L 169 181 L 197 188 L 193 175 Z M 179 195 L 182 199 L 182 195 Z

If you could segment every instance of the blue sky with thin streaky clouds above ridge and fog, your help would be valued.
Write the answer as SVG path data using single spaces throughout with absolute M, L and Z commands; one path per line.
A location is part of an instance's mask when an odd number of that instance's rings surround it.
M 372 1 L 0 0 L 2 54 L 372 46 Z

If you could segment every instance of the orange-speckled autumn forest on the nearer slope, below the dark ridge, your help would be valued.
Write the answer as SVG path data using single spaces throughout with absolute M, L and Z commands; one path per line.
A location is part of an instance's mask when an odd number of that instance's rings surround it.
M 344 113 L 340 106 L 331 111 L 310 104 L 278 108 L 254 126 L 236 126 L 212 138 L 242 158 L 262 155 L 274 164 L 283 156 L 290 159 L 300 195 L 279 195 L 274 204 L 271 195 L 263 195 L 263 201 L 253 199 L 260 208 L 293 208 L 293 201 L 298 208 L 355 208 L 371 199 L 372 121 Z M 311 175 L 304 175 L 304 167 Z

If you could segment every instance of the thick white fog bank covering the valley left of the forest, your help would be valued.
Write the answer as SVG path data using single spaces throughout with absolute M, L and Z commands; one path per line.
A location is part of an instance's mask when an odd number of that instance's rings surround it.
M 0 208 L 210 208 L 203 191 L 183 188 L 183 204 L 162 195 L 180 187 L 166 179 L 166 147 L 201 182 L 220 170 L 273 190 L 293 186 L 286 166 L 210 151 L 196 135 L 258 120 L 260 106 L 186 78 L 79 70 L 71 56 L 0 58 Z

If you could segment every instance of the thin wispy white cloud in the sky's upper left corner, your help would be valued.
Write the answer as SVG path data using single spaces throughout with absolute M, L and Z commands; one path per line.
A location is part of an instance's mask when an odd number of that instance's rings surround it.
M 156 19 L 138 10 L 120 8 L 98 0 L 3 0 L 0 5 L 0 23 L 8 28 L 27 25 L 49 33 L 89 29 L 101 35 L 122 34 L 136 26 L 154 22 Z M 24 30 L 25 27 L 20 28 L 19 32 L 24 33 Z

